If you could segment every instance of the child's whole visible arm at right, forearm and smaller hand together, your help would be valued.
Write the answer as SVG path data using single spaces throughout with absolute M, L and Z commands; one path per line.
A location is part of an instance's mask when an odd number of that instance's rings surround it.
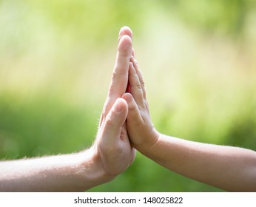
M 132 146 L 183 176 L 226 191 L 256 191 L 256 152 L 162 135 L 149 117 L 146 90 L 137 61 L 129 65 L 127 130 Z

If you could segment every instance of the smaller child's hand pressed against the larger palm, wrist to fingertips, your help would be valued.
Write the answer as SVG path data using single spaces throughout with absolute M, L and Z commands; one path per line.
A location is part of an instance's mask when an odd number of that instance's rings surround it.
M 127 132 L 132 146 L 144 152 L 158 140 L 159 133 L 150 119 L 144 80 L 133 57 L 129 63 L 129 92 L 122 95 L 128 104 Z

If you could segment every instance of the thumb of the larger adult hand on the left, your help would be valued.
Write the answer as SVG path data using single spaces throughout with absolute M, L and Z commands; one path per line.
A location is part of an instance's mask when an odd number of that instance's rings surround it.
M 116 139 L 121 135 L 121 126 L 127 119 L 128 106 L 123 98 L 118 98 L 110 109 L 104 122 L 103 135 L 108 140 Z

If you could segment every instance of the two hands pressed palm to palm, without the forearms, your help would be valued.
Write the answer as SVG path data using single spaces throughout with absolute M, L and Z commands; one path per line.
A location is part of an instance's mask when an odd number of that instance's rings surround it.
M 135 149 L 144 151 L 158 140 L 149 117 L 146 89 L 132 48 L 132 31 L 122 27 L 107 100 L 93 150 L 109 176 L 124 172 L 135 159 Z

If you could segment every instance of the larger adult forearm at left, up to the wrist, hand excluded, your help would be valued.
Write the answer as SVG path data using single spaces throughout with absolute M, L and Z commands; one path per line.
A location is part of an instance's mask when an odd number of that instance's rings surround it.
M 93 157 L 94 156 L 94 157 Z M 0 162 L 0 191 L 85 191 L 112 180 L 91 150 Z

